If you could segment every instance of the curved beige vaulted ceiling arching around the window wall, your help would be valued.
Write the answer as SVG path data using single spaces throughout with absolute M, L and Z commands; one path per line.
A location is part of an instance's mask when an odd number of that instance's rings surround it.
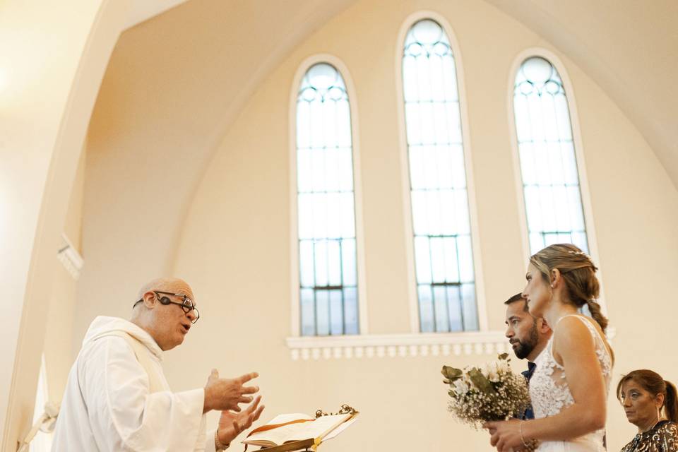
M 225 131 L 292 49 L 357 1 L 136 1 L 90 123 L 83 251 L 93 264 L 83 294 L 96 292 L 106 266 L 126 266 L 139 284 L 172 273 L 184 215 Z M 678 2 L 484 1 L 588 73 L 678 187 Z M 121 164 L 112 182 L 95 184 Z M 134 192 L 133 206 L 119 202 L 123 190 Z M 88 230 L 109 233 L 102 240 Z

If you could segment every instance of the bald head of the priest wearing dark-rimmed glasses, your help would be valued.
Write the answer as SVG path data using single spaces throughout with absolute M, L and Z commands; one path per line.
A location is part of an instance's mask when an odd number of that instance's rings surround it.
M 157 294 L 155 292 L 166 292 Z M 156 278 L 141 287 L 132 312 L 132 323 L 147 331 L 162 350 L 169 350 L 184 341 L 197 311 L 184 311 L 184 296 L 196 304 L 191 286 L 179 278 Z M 165 303 L 160 302 L 163 300 Z

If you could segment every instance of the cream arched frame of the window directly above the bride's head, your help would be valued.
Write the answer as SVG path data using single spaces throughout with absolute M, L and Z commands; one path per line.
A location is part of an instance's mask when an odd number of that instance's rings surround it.
M 593 261 L 600 264 L 600 254 L 598 253 L 597 239 L 595 233 L 595 220 L 593 219 L 593 207 L 591 205 L 590 189 L 588 185 L 588 172 L 586 171 L 586 162 L 584 158 L 584 145 L 581 138 L 581 129 L 579 126 L 579 114 L 576 105 L 576 96 L 571 83 L 569 73 L 561 59 L 543 47 L 530 47 L 519 52 L 513 59 L 511 70 L 509 71 L 509 81 L 506 85 L 507 112 L 509 118 L 509 133 L 511 134 L 511 154 L 513 156 L 513 174 L 516 183 L 516 196 L 518 201 L 518 222 L 521 239 L 523 242 L 523 261 L 528 262 L 530 256 L 530 237 L 528 231 L 527 208 L 525 206 L 525 194 L 523 192 L 523 173 L 521 170 L 521 155 L 518 149 L 518 132 L 516 131 L 516 114 L 513 109 L 513 92 L 516 85 L 516 75 L 521 69 L 523 62 L 531 57 L 541 57 L 558 71 L 560 79 L 565 88 L 565 99 L 570 115 L 570 126 L 572 128 L 572 140 L 574 145 L 574 155 L 576 157 L 577 175 L 579 177 L 579 191 L 581 194 L 581 206 L 584 215 L 584 225 L 586 228 L 586 240 L 588 242 L 588 252 Z M 603 287 L 602 271 L 598 270 L 597 278 L 600 282 L 600 297 L 597 300 L 600 303 L 603 314 L 607 316 L 607 304 L 605 303 L 605 293 Z

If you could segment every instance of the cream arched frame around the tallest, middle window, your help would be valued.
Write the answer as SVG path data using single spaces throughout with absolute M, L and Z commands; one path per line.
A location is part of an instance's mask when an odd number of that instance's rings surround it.
M 478 316 L 478 331 L 489 331 L 487 318 L 487 305 L 484 292 L 484 278 L 482 275 L 482 258 L 480 248 L 480 227 L 478 225 L 477 203 L 475 197 L 475 181 L 473 177 L 472 146 L 470 143 L 469 120 L 467 110 L 466 87 L 463 69 L 463 58 L 458 44 L 456 34 L 453 32 L 448 20 L 440 13 L 435 11 L 417 11 L 410 14 L 398 32 L 398 41 L 396 45 L 396 96 L 398 97 L 398 135 L 400 143 L 400 167 L 401 178 L 403 181 L 403 214 L 405 221 L 405 249 L 408 266 L 408 298 L 410 299 L 410 332 L 417 334 L 427 334 L 420 331 L 420 311 L 419 297 L 417 295 L 417 274 L 415 268 L 415 247 L 414 230 L 412 225 L 412 200 L 410 194 L 410 162 L 409 148 L 407 140 L 407 126 L 405 118 L 405 97 L 403 88 L 403 46 L 405 37 L 407 37 L 412 25 L 422 19 L 435 20 L 446 32 L 453 52 L 456 76 L 457 91 L 459 96 L 459 114 L 461 121 L 461 134 L 463 141 L 463 153 L 465 162 L 466 191 L 468 196 L 468 215 L 470 220 L 471 249 L 473 255 L 473 271 L 475 279 L 475 297 Z M 435 333 L 448 335 L 462 335 L 466 333 L 477 333 L 476 331 L 458 331 L 453 333 Z

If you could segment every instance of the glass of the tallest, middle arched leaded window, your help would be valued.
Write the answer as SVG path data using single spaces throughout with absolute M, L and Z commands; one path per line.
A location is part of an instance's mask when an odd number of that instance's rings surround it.
M 434 20 L 405 37 L 403 94 L 420 331 L 477 330 L 456 65 Z

